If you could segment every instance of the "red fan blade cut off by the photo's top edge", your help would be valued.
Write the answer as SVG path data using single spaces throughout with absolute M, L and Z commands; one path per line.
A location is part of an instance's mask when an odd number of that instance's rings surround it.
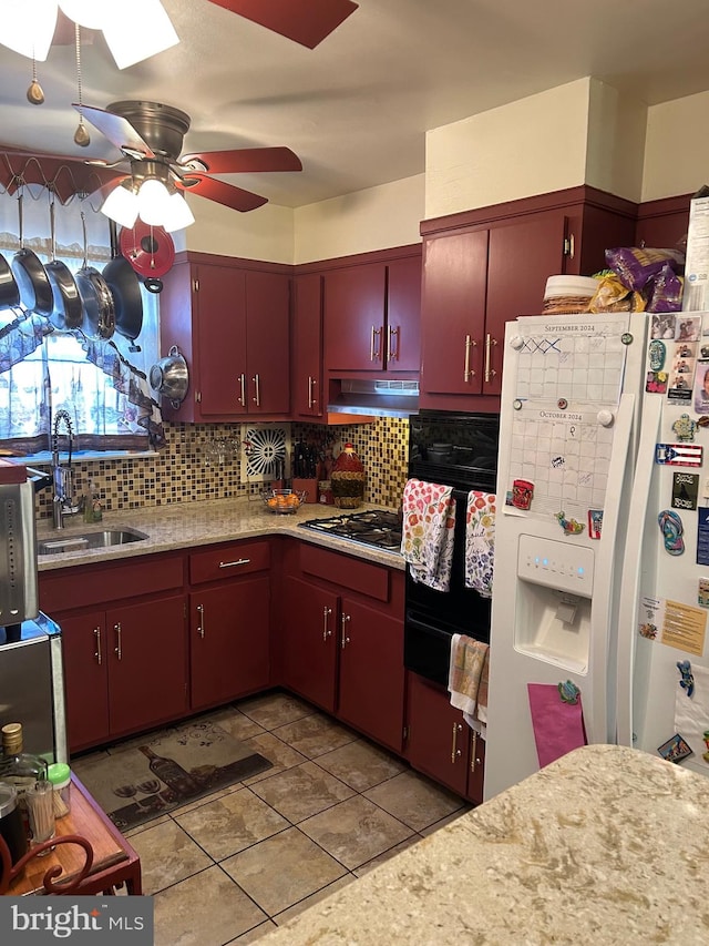
M 209 0 L 286 39 L 315 49 L 358 8 L 351 0 Z

